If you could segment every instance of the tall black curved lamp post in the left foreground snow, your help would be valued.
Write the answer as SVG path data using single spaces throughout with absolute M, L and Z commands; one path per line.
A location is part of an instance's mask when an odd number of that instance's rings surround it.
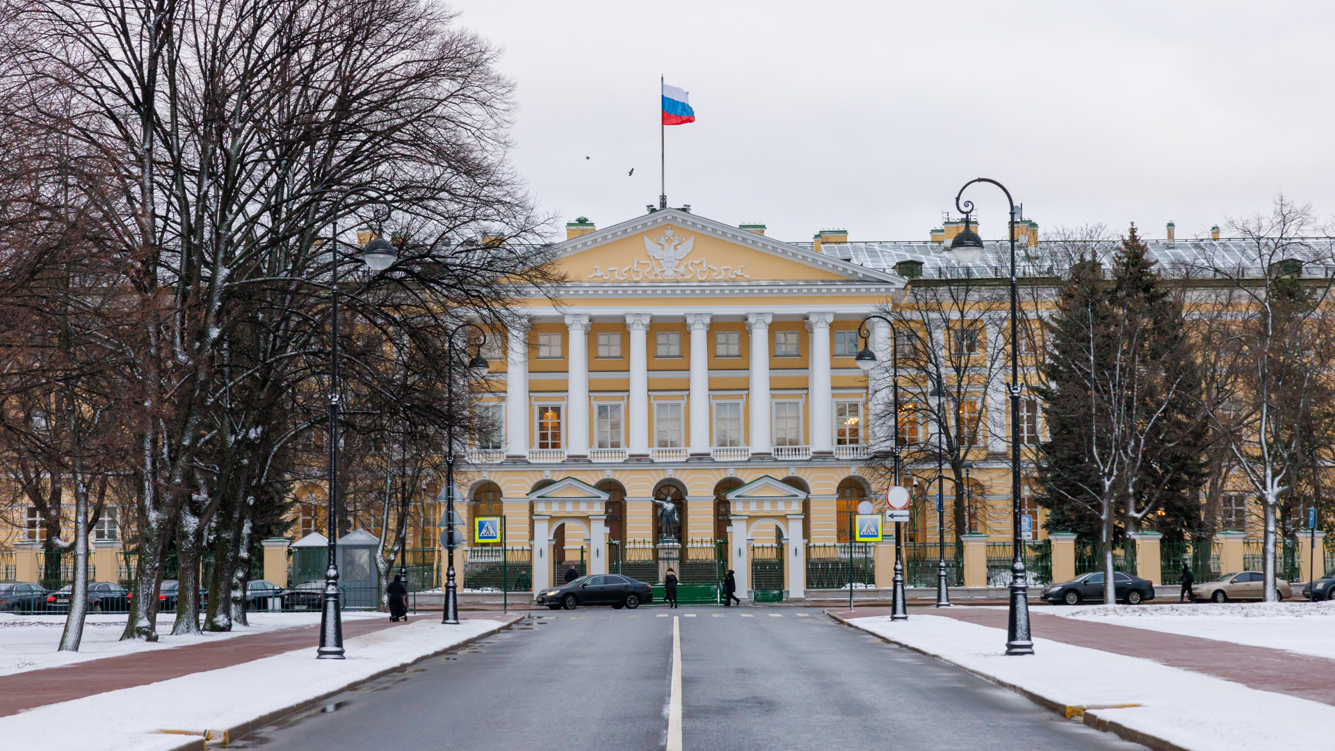
M 328 442 L 330 442 L 330 469 L 328 469 L 328 509 L 326 514 L 328 516 L 328 565 L 324 569 L 324 595 L 320 603 L 320 645 L 315 651 L 315 657 L 322 660 L 342 660 L 343 659 L 343 619 L 339 612 L 339 593 L 338 593 L 338 410 L 339 410 L 339 382 L 338 382 L 338 216 L 343 211 L 343 202 L 347 200 L 350 195 L 366 192 L 367 186 L 354 186 L 343 191 L 338 202 L 334 204 L 334 220 L 330 222 L 331 246 L 330 255 L 334 266 L 332 279 L 330 282 L 330 428 L 328 428 Z M 380 198 L 384 202 L 383 198 Z M 398 251 L 394 249 L 394 243 L 384 239 L 379 231 L 371 242 L 366 243 L 362 249 L 362 261 L 371 269 L 371 271 L 384 271 L 394 265 L 394 259 L 398 257 Z

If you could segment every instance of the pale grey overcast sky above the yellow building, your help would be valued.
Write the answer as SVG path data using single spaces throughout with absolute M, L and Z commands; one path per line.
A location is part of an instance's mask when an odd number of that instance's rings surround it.
M 778 239 L 925 241 L 976 176 L 1040 231 L 1335 210 L 1335 3 L 454 7 L 505 49 L 514 162 L 561 222 L 657 203 L 659 73 L 697 118 L 668 127 L 669 203 Z M 969 190 L 1004 237 L 1005 198 Z

